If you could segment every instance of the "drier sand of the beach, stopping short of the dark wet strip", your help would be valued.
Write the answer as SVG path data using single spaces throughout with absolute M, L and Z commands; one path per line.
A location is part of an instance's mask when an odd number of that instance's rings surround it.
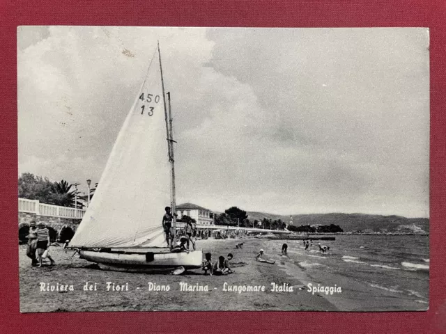
M 22 312 L 85 312 L 121 310 L 337 310 L 333 303 L 303 289 L 301 277 L 291 277 L 286 271 L 286 262 L 280 262 L 279 252 L 266 253 L 279 259 L 275 264 L 256 262 L 254 257 L 268 241 L 243 239 L 243 249 L 235 249 L 238 239 L 199 240 L 197 247 L 203 253 L 226 256 L 233 253 L 232 267 L 236 273 L 228 276 L 204 276 L 200 269 L 185 275 L 122 273 L 101 271 L 95 266 L 72 257 L 59 247 L 52 247 L 56 266 L 33 268 L 20 247 L 20 310 Z M 284 258 L 284 261 L 286 259 Z M 86 282 L 97 283 L 96 291 L 85 292 Z M 107 292 L 106 283 L 128 283 L 128 291 Z M 148 283 L 169 285 L 169 292 L 149 292 Z M 180 282 L 189 285 L 208 285 L 208 292 L 180 291 Z M 73 285 L 75 291 L 40 292 L 40 283 L 50 285 Z M 264 285 L 265 292 L 225 292 L 228 285 Z M 271 283 L 286 283 L 293 292 L 270 292 Z

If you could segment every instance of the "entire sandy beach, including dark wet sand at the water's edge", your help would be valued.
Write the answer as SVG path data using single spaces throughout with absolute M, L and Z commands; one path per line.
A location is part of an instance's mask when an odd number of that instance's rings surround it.
M 243 241 L 243 249 L 236 243 Z M 335 241 L 337 242 L 337 241 Z M 212 253 L 213 261 L 219 255 L 233 253 L 231 267 L 235 273 L 228 276 L 204 276 L 201 269 L 187 271 L 181 276 L 169 274 L 124 273 L 101 271 L 95 264 L 81 260 L 72 251 L 52 247 L 54 267 L 49 262 L 42 268 L 31 267 L 24 246 L 20 246 L 20 310 L 22 312 L 85 312 L 122 310 L 316 310 L 316 311 L 378 311 L 425 310 L 427 303 L 419 303 L 413 296 L 397 289 L 379 289 L 367 285 L 352 275 L 337 271 L 322 271 L 317 276 L 311 271 L 318 262 L 334 261 L 334 255 L 323 256 L 300 249 L 300 243 L 289 242 L 289 255 L 282 256 L 283 241 L 268 239 L 207 239 L 198 240 L 197 248 Z M 266 258 L 276 260 L 266 264 L 254 260 L 259 249 Z M 344 250 L 345 251 L 345 250 Z M 331 257 L 330 257 L 331 256 Z M 360 266 L 360 264 L 358 264 Z M 307 268 L 305 268 L 307 267 Z M 321 268 L 321 267 L 318 267 Z M 360 268 L 360 267 L 359 267 Z M 385 270 L 385 269 L 383 269 Z M 401 275 L 400 271 L 392 271 Z M 309 275 L 312 273 L 312 275 Z M 96 290 L 84 291 L 96 283 Z M 107 291 L 114 284 L 124 291 Z M 72 285 L 73 291 L 40 291 L 57 284 Z M 169 291 L 149 291 L 153 286 L 167 287 Z M 201 287 L 208 291 L 181 291 L 180 283 Z M 225 284 L 226 283 L 226 284 Z M 286 292 L 272 292 L 272 283 L 285 286 Z M 313 287 L 341 287 L 340 293 L 309 292 Z M 224 291 L 228 286 L 264 286 L 264 292 Z M 207 288 L 205 288 L 207 287 Z M 45 288 L 47 289 L 47 288 Z M 417 297 L 415 297 L 417 298 Z

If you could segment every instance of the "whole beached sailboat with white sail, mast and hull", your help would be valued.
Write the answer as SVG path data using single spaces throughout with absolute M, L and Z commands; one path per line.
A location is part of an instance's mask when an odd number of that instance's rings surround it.
M 176 206 L 174 142 L 158 42 L 95 196 L 70 241 L 81 258 L 115 271 L 201 267 L 202 251 L 172 253 L 162 228 L 164 207 L 170 203 L 174 214 Z

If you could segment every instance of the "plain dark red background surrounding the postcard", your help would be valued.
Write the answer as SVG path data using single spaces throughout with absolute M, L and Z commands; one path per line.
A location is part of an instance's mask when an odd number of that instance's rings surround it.
M 150 15 L 148 15 L 150 13 Z M 446 333 L 446 1 L 0 0 L 0 333 Z M 431 29 L 431 269 L 428 312 L 20 314 L 17 238 L 19 25 L 428 26 Z M 187 309 L 187 305 L 185 305 Z

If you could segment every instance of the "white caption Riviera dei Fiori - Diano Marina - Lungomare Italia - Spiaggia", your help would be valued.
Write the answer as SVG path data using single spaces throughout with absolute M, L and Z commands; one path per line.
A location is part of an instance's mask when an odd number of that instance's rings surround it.
M 208 292 L 212 291 L 208 285 L 201 285 L 199 283 L 190 284 L 185 282 L 179 282 L 180 292 Z M 61 283 L 39 283 L 40 292 L 69 292 L 75 291 L 74 285 L 61 284 Z M 160 285 L 153 282 L 148 282 L 147 287 L 136 287 L 137 290 L 141 289 L 148 292 L 169 292 L 171 290 L 170 285 Z M 217 289 L 216 287 L 213 289 Z M 84 292 L 93 292 L 93 291 L 106 291 L 106 292 L 128 292 L 131 291 L 128 283 L 118 284 L 113 282 L 106 282 L 105 284 L 98 283 L 90 283 L 86 282 L 82 286 L 82 290 Z M 221 290 L 223 292 L 233 292 L 237 294 L 241 294 L 243 292 L 294 292 L 293 285 L 289 285 L 289 283 L 270 283 L 270 286 L 267 288 L 265 285 L 229 285 L 224 282 Z M 334 294 L 342 292 L 341 287 L 323 287 L 320 284 L 313 285 L 312 283 L 308 283 L 307 292 L 312 294 L 315 293 L 323 293 L 323 294 Z

